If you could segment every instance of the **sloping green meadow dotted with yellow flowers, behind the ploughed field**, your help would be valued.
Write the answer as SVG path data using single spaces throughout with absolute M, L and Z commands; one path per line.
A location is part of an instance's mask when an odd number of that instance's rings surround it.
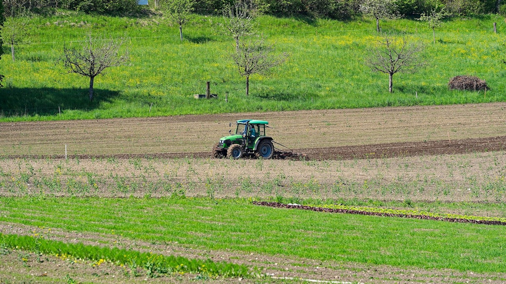
M 374 22 L 357 19 L 275 18 L 255 20 L 259 34 L 287 52 L 287 62 L 269 76 L 254 75 L 250 96 L 230 54 L 232 39 L 220 35 L 213 22 L 220 18 L 196 15 L 178 28 L 163 18 L 118 18 L 61 12 L 58 16 L 26 19 L 31 42 L 10 46 L 0 70 L 6 76 L 0 88 L 0 121 L 98 119 L 180 114 L 362 108 L 405 105 L 464 104 L 504 101 L 504 64 L 501 63 L 503 18 L 485 15 L 452 19 L 436 30 L 409 19 L 382 21 L 383 31 L 404 34 L 426 45 L 426 68 L 414 74 L 394 75 L 394 93 L 388 93 L 388 75 L 373 73 L 364 64 L 370 48 L 381 37 Z M 492 23 L 498 23 L 498 33 Z M 110 68 L 95 79 L 95 100 L 89 102 L 89 78 L 68 74 L 59 62 L 63 45 L 74 46 L 91 32 L 97 37 L 127 37 L 131 61 Z M 490 90 L 450 91 L 456 75 L 476 75 Z M 205 82 L 219 96 L 195 100 Z M 225 97 L 228 96 L 228 103 Z

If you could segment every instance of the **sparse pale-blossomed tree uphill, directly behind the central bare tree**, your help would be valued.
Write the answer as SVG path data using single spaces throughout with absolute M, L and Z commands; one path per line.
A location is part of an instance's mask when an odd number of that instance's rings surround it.
M 253 18 L 257 7 L 248 0 L 236 0 L 234 4 L 227 5 L 223 11 L 223 22 L 218 23 L 219 31 L 231 36 L 235 40 L 235 50 L 239 50 L 239 39 L 254 35 Z

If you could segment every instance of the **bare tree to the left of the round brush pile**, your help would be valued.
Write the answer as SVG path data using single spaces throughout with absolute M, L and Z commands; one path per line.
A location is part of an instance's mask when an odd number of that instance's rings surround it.
M 396 40 L 385 35 L 374 48 L 368 50 L 370 56 L 365 63 L 372 71 L 389 75 L 388 91 L 393 92 L 392 78 L 395 73 L 414 73 L 426 65 L 420 56 L 423 50 L 423 44 L 409 44 L 405 37 Z

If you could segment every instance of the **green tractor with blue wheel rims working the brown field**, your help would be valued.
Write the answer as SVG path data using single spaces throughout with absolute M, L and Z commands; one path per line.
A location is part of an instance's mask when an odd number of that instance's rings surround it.
M 274 155 L 272 137 L 266 136 L 265 128 L 269 122 L 264 120 L 237 120 L 235 133 L 221 137 L 220 142 L 213 148 L 216 158 L 232 157 L 240 159 L 245 156 L 256 156 L 270 159 Z M 232 125 L 230 125 L 232 126 Z

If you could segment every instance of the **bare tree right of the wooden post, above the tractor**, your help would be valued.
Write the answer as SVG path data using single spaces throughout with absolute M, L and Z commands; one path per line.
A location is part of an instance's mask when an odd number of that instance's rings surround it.
M 249 76 L 266 75 L 272 67 L 280 65 L 288 58 L 287 53 L 273 55 L 274 47 L 264 44 L 262 37 L 239 44 L 239 49 L 232 54 L 232 59 L 239 69 L 239 74 L 246 77 L 246 96 L 249 94 Z

